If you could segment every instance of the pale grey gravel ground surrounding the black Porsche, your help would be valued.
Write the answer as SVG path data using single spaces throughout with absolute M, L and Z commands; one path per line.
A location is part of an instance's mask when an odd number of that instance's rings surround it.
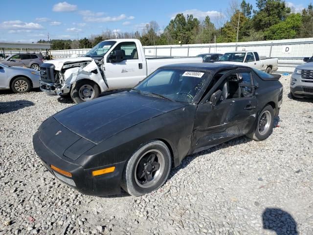
M 73 105 L 34 91 L 0 92 L 0 235 L 313 234 L 313 100 L 284 99 L 266 141 L 245 137 L 185 158 L 142 197 L 90 197 L 45 170 L 32 136 Z M 276 232 L 276 233 L 275 233 Z

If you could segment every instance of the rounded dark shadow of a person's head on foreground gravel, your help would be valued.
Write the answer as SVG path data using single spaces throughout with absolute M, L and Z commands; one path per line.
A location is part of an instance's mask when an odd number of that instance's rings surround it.
M 297 223 L 291 214 L 277 208 L 267 208 L 263 214 L 263 228 L 274 231 L 276 235 L 298 235 Z

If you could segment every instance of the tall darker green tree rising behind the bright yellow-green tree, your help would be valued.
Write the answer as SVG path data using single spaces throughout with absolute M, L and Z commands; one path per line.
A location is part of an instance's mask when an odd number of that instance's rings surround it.
M 253 28 L 266 31 L 270 26 L 285 21 L 291 9 L 283 0 L 257 0 L 258 11 L 254 11 Z

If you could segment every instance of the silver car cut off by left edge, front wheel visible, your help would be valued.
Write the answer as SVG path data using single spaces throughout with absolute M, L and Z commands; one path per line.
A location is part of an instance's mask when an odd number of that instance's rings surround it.
M 11 89 L 14 93 L 29 92 L 30 89 L 39 87 L 39 80 L 39 71 L 0 64 L 0 90 Z

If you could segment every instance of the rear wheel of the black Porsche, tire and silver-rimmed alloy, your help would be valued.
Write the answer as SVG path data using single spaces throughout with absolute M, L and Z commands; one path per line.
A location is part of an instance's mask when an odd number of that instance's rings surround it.
M 255 141 L 266 140 L 273 131 L 273 122 L 274 122 L 274 110 L 272 106 L 267 105 L 261 111 L 258 117 L 258 122 L 257 122 L 254 132 L 249 133 L 246 136 Z

